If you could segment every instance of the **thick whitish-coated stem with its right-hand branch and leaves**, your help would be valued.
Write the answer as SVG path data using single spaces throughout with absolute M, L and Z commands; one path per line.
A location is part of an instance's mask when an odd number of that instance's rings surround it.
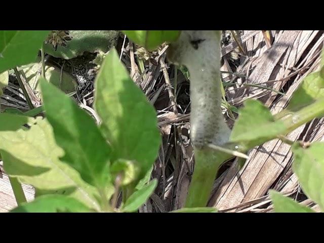
M 313 118 L 324 115 L 322 65 L 319 72 L 304 79 L 289 106 L 275 116 L 258 101 L 245 102 L 245 107 L 240 109 L 238 120 L 229 135 L 220 113 L 220 91 L 211 88 L 220 86 L 219 47 L 214 46 L 219 45 L 219 42 L 219 34 L 213 31 L 186 31 L 180 35 L 177 42 L 171 44 L 169 53 L 170 60 L 188 67 L 191 78 L 190 123 L 195 169 L 187 207 L 206 205 L 219 166 L 233 154 L 246 152 L 274 138 L 291 143 L 285 139 L 287 133 Z M 258 127 L 252 131 L 250 125 L 254 123 L 258 123 Z M 299 142 L 295 142 L 292 148 L 295 155 L 294 171 L 302 183 L 302 188 L 323 209 L 320 196 L 323 174 L 320 170 L 321 155 L 318 149 L 322 145 L 314 143 L 309 148 L 304 148 Z M 211 148 L 215 148 L 215 151 Z M 308 165 L 305 165 L 306 161 Z M 316 167 L 317 170 L 311 169 L 312 167 Z M 313 172 L 313 177 L 305 174 L 308 171 Z M 208 192 L 201 192 L 201 188 Z

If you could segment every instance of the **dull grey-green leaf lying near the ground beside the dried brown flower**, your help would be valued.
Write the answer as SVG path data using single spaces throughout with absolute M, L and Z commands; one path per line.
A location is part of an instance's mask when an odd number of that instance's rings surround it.
M 71 41 L 66 47 L 58 46 L 57 50 L 51 44 L 46 44 L 44 50 L 53 57 L 71 59 L 81 56 L 84 52 L 107 52 L 114 46 L 119 32 L 115 30 L 70 30 Z

